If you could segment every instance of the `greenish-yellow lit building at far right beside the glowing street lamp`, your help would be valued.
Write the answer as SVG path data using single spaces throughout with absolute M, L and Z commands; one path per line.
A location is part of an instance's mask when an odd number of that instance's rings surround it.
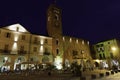
M 113 66 L 119 66 L 120 62 L 120 41 L 117 39 L 111 39 L 99 42 L 95 45 L 95 57 L 96 62 L 101 68 L 112 68 Z

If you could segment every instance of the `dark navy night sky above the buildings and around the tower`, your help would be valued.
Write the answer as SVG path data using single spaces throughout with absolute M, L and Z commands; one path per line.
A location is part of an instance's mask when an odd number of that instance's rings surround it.
M 20 23 L 31 33 L 47 35 L 46 10 L 54 0 L 0 0 L 0 26 Z M 57 0 L 63 34 L 91 43 L 120 37 L 119 0 Z

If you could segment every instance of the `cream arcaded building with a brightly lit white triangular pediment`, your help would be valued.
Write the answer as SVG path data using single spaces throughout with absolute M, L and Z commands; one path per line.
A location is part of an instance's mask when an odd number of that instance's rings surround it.
M 52 63 L 52 38 L 34 35 L 20 24 L 0 28 L 0 67 L 26 69 L 38 63 Z

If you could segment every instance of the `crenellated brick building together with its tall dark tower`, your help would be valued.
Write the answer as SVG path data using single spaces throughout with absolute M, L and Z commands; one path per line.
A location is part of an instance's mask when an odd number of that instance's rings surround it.
M 47 10 L 47 30 L 48 35 L 53 39 L 53 54 L 55 62 L 59 64 L 78 64 L 86 62 L 90 64 L 92 58 L 90 55 L 89 41 L 70 36 L 64 36 L 62 32 L 62 10 L 52 4 Z M 59 65 L 60 66 L 60 65 Z

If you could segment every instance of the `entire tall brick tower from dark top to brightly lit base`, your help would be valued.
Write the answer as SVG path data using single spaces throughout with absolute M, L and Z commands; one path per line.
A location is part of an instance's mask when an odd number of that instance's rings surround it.
M 62 68 L 63 62 L 63 38 L 61 9 L 56 4 L 51 4 L 47 10 L 47 32 L 52 37 L 52 52 L 57 68 Z

